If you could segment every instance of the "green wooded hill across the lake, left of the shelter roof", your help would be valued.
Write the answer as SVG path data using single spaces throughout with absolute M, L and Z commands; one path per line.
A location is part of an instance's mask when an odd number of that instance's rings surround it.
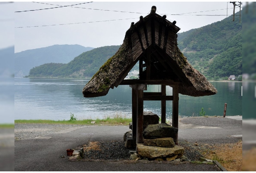
M 48 63 L 30 70 L 28 77 L 92 77 L 119 46 L 104 46 L 82 53 L 67 64 Z

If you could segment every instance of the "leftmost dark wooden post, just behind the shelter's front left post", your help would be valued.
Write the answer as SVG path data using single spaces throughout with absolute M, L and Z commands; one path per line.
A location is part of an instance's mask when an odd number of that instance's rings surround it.
M 132 136 L 136 140 L 137 136 L 137 90 L 132 88 Z

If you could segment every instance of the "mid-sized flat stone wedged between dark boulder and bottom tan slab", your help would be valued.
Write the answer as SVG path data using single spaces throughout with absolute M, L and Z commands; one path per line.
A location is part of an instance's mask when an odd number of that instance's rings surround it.
M 143 145 L 172 148 L 175 146 L 175 143 L 173 138 L 164 137 L 157 139 L 144 139 Z

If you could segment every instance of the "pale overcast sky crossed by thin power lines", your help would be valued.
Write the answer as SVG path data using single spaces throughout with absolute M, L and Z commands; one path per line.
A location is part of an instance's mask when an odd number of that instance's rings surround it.
M 15 2 L 14 11 L 53 8 L 79 3 L 85 2 L 50 2 L 50 4 L 54 5 L 33 2 Z M 129 29 L 131 22 L 136 23 L 139 21 L 139 16 L 141 15 L 145 17 L 150 12 L 153 5 L 157 7 L 157 14 L 161 16 L 166 14 L 169 21 L 177 21 L 176 25 L 181 28 L 179 32 L 199 28 L 223 20 L 226 18 L 226 14 L 229 16 L 233 13 L 233 4 L 227 2 L 91 2 L 72 7 L 15 12 L 10 15 L 10 17 L 13 16 L 15 19 L 15 53 L 54 44 L 80 44 L 85 47 L 94 48 L 121 45 L 125 32 Z M 6 10 L 7 6 L 8 5 L 5 5 Z M 236 12 L 237 11 L 239 11 L 239 8 L 236 8 Z M 6 18 L 10 17 L 7 16 Z M 66 25 L 42 26 L 53 24 Z M 13 30 L 5 32 L 8 33 L 11 31 Z

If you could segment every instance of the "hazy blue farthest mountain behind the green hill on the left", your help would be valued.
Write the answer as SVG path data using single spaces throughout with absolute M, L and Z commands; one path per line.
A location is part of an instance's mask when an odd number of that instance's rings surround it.
M 38 49 L 31 49 L 14 54 L 14 75 L 24 77 L 30 69 L 45 63 L 68 63 L 83 52 L 92 50 L 92 47 L 75 45 L 53 45 Z

